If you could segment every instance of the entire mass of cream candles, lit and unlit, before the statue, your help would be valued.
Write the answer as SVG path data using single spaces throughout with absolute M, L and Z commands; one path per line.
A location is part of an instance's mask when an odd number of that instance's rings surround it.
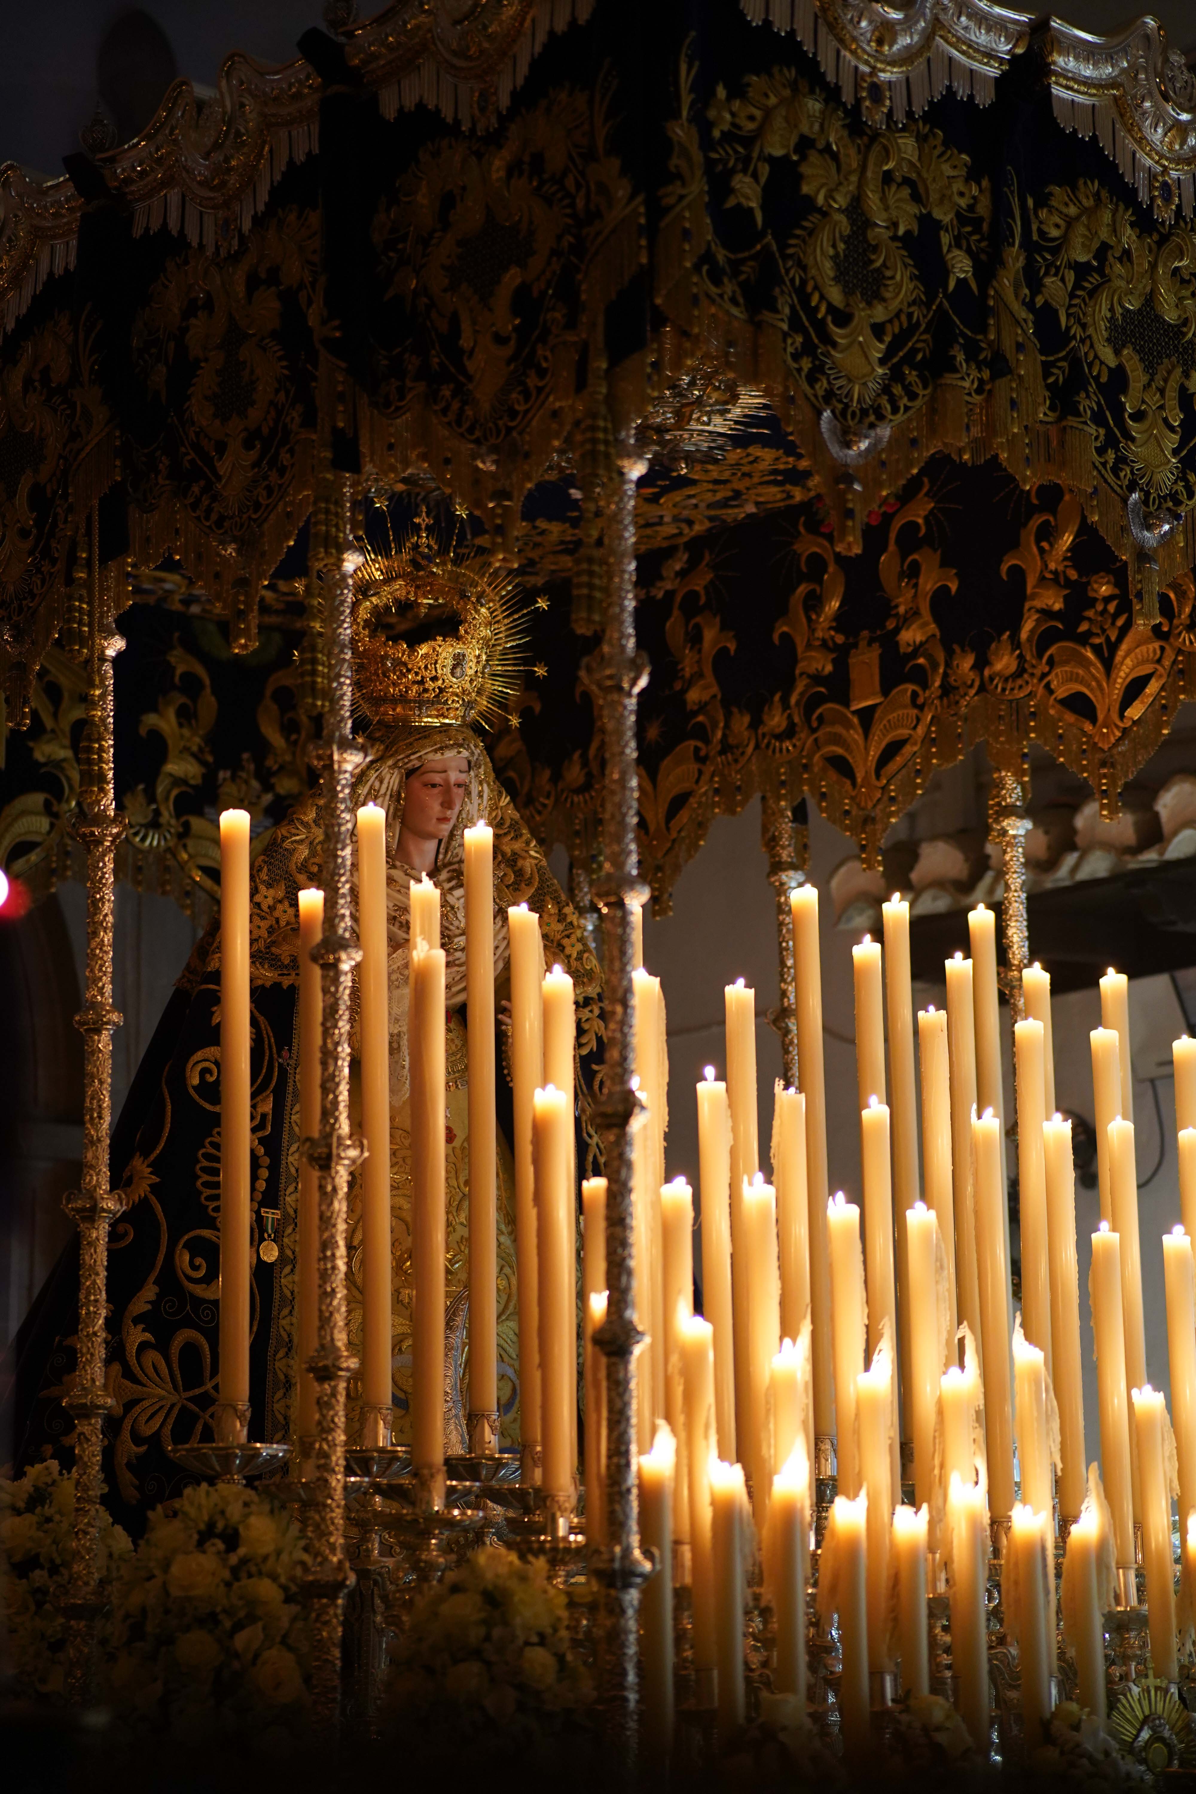
M 249 1396 L 249 831 L 221 818 L 222 1207 L 221 1405 Z M 520 1301 L 520 1437 L 525 1476 L 563 1502 L 576 1484 L 576 1238 L 572 981 L 545 974 L 540 924 L 507 913 L 515 1222 Z M 359 811 L 362 1132 L 362 1414 L 389 1424 L 393 1272 L 389 1218 L 389 1003 L 386 816 Z M 319 983 L 310 949 L 319 892 L 299 893 L 301 1132 L 319 1125 Z M 805 1586 L 812 1473 L 837 1435 L 837 1498 L 818 1604 L 839 1615 L 845 1735 L 864 1726 L 870 1670 L 900 1663 L 927 1686 L 927 1579 L 950 1566 L 952 1667 L 977 1746 L 988 1737 L 984 1577 L 988 1520 L 1008 1521 L 1006 1616 L 1018 1638 L 1027 1717 L 1047 1710 L 1054 1670 L 1049 1573 L 1053 1494 L 1069 1520 L 1065 1624 L 1081 1699 L 1103 1711 L 1101 1611 L 1142 1528 L 1151 1650 L 1174 1676 L 1169 1419 L 1146 1381 L 1133 1164 L 1126 980 L 1101 980 L 1092 1033 L 1101 1229 L 1092 1310 L 1105 1482 L 1085 1471 L 1070 1123 L 1054 1116 L 1049 978 L 1024 974 L 1015 1026 L 1022 1315 L 1013 1326 L 995 917 L 970 915 L 972 958 L 947 962 L 947 1010 L 913 1014 L 909 911 L 884 906 L 884 953 L 854 949 L 861 1098 L 861 1211 L 830 1197 L 823 1084 L 818 892 L 793 893 L 800 1087 L 776 1089 L 773 1175 L 758 1166 L 755 994 L 726 990 L 726 1082 L 698 1085 L 703 1315 L 694 1315 L 694 1198 L 665 1182 L 667 1053 L 660 981 L 637 965 L 640 1119 L 635 1136 L 640 1514 L 665 1572 L 644 1602 L 646 1711 L 660 1749 L 672 1731 L 672 1575 L 692 1584 L 694 1667 L 721 1722 L 744 1713 L 742 1611 L 755 1525 L 776 1620 L 778 1692 L 805 1694 Z M 637 962 L 642 953 L 637 951 Z M 439 893 L 411 886 L 412 1462 L 445 1457 L 445 954 Z M 497 1442 L 493 859 L 486 823 L 466 831 L 470 1058 L 470 1392 L 482 1444 Z M 888 1023 L 888 1080 L 886 1080 Z M 916 1053 L 914 1053 L 916 1041 Z M 918 1141 L 916 1075 L 922 1082 Z M 1196 1511 L 1196 1041 L 1174 1049 L 1187 1227 L 1164 1240 L 1180 1514 Z M 891 1107 L 886 1094 L 891 1093 Z M 922 1171 L 918 1146 L 922 1145 Z M 602 1179 L 583 1182 L 586 1530 L 604 1534 L 606 1315 Z M 925 1197 L 925 1200 L 923 1200 Z M 314 1432 L 316 1179 L 305 1168 L 298 1238 L 299 1432 Z M 983 1421 L 981 1421 L 983 1415 Z M 1058 1415 L 1058 1430 L 1054 1419 Z M 836 1426 L 837 1419 L 837 1426 Z M 900 1439 L 913 1442 L 914 1505 L 902 1505 Z M 1013 1450 L 1022 1502 L 1015 1500 Z M 366 1439 L 364 1442 L 371 1442 Z M 377 1442 L 377 1441 L 373 1441 Z M 828 1466 L 823 1466 L 828 1469 Z M 1054 1485 L 1058 1473 L 1058 1485 Z M 1187 1534 L 1185 1534 L 1187 1539 Z M 681 1543 L 689 1552 L 674 1554 Z M 1196 1564 L 1196 1532 L 1185 1543 Z M 1130 1586 L 1122 1581 L 1122 1591 Z M 895 1598 L 893 1598 L 895 1593 Z M 1126 1597 L 1131 1598 L 1131 1597 Z M 895 1618 L 893 1618 L 895 1616 Z M 1088 1667 L 1085 1672 L 1085 1665 Z

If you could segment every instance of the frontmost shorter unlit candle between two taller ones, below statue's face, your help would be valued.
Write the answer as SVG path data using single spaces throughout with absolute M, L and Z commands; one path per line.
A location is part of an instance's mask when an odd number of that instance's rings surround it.
M 445 954 L 439 947 L 416 947 L 411 954 L 407 1051 L 411 1462 L 414 1469 L 439 1471 L 445 1464 Z

